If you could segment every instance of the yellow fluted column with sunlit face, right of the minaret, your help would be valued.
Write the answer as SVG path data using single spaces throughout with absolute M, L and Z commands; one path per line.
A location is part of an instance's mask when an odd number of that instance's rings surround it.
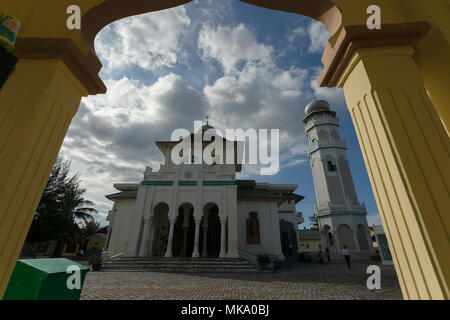
M 405 299 L 448 299 L 450 142 L 410 46 L 357 50 L 339 80 Z

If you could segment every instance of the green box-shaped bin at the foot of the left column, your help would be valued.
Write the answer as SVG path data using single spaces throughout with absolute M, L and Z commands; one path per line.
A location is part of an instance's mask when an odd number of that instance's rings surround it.
M 79 272 L 68 272 L 71 266 Z M 79 300 L 88 271 L 88 267 L 63 258 L 18 260 L 3 300 Z

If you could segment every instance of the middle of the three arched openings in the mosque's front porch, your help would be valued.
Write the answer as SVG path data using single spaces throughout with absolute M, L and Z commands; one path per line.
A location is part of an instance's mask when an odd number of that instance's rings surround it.
M 191 257 L 194 251 L 194 237 L 194 207 L 190 203 L 183 203 L 178 207 L 178 217 L 173 230 L 173 256 Z

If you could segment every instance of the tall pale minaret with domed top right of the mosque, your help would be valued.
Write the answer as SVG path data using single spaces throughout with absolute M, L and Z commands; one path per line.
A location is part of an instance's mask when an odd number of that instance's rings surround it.
M 314 214 L 323 249 L 340 252 L 346 245 L 353 252 L 371 252 L 366 207 L 356 195 L 347 146 L 339 135 L 339 118 L 324 100 L 308 104 L 305 114 L 303 123 L 317 199 Z

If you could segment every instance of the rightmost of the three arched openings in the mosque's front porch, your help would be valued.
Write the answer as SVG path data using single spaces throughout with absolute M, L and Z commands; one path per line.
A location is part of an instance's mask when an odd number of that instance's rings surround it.
M 203 208 L 203 223 L 200 229 L 199 247 L 202 258 L 219 256 L 220 232 L 219 207 L 215 203 L 208 203 Z

